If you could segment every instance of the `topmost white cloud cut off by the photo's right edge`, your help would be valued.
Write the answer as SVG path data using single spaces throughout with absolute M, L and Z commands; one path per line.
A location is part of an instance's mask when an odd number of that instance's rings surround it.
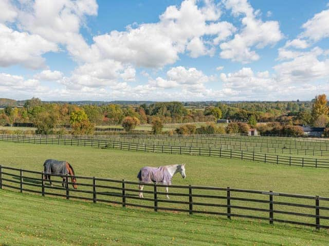
M 329 37 L 329 9 L 323 10 L 313 16 L 312 19 L 307 20 L 303 24 L 304 32 L 300 34 L 301 37 L 309 38 L 314 42 L 322 38 Z

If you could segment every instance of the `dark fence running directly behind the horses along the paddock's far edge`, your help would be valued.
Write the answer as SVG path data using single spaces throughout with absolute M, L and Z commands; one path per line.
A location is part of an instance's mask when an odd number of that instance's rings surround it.
M 90 146 L 97 148 L 113 148 L 128 151 L 142 151 L 154 153 L 214 156 L 220 158 L 262 161 L 265 163 L 280 164 L 298 167 L 329 168 L 329 160 L 307 157 L 283 156 L 255 151 L 227 150 L 211 147 L 185 147 L 169 145 L 138 144 L 135 142 L 116 141 L 112 139 L 87 139 L 87 138 L 56 138 L 56 136 L 45 137 L 38 135 L 0 135 L 0 140 L 22 142 L 30 144 L 49 144 L 65 146 Z

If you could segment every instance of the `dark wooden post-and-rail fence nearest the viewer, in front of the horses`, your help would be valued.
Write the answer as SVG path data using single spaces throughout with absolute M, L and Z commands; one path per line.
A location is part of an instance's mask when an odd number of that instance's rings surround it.
M 52 175 L 52 179 L 60 175 Z M 189 214 L 212 214 L 285 222 L 302 226 L 329 229 L 329 197 L 287 194 L 273 191 L 242 190 L 204 186 L 169 186 L 165 199 L 159 183 L 143 183 L 144 198 L 138 196 L 141 182 L 109 178 L 75 176 L 78 189 L 71 189 L 70 176 L 48 185 L 45 173 L 0 166 L 0 189 L 42 196 L 59 196 L 93 202 L 120 204 L 154 211 L 178 211 Z

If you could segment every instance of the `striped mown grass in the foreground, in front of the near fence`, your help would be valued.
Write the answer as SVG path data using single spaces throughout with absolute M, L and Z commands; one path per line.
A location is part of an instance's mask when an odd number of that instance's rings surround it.
M 0 191 L 0 245 L 328 245 L 326 230 Z

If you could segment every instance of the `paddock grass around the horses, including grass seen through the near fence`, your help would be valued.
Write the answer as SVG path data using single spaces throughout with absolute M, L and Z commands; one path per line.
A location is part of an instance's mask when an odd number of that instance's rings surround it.
M 316 168 L 289 167 L 282 165 L 272 165 L 263 162 L 243 161 L 239 159 L 226 159 L 218 157 L 189 156 L 189 155 L 170 155 L 160 153 L 143 153 L 134 151 L 121 151 L 113 149 L 98 149 L 92 147 L 70 147 L 57 145 L 33 145 L 33 144 L 15 144 L 13 142 L 0 141 L 0 164 L 34 171 L 43 171 L 43 163 L 46 159 L 54 158 L 67 160 L 75 168 L 76 174 L 80 176 L 108 177 L 113 179 L 137 180 L 136 176 L 139 169 L 143 166 L 163 166 L 175 163 L 186 163 L 187 178 L 182 179 L 179 174 L 174 176 L 174 185 L 200 185 L 215 187 L 231 187 L 237 189 L 263 190 L 286 193 L 297 193 L 306 195 L 329 196 L 328 177 L 329 170 Z M 17 173 L 16 173 L 17 174 Z M 40 175 L 35 176 L 40 178 Z M 8 178 L 8 177 L 7 177 Z M 9 177 L 12 180 L 13 177 Z M 60 180 L 60 178 L 53 178 Z M 17 178 L 15 179 L 17 181 Z M 29 181 L 29 180 L 27 180 Z M 78 182 L 87 182 L 80 179 Z M 98 182 L 99 185 L 111 185 Z M 17 185 L 17 184 L 16 184 Z M 59 184 L 57 184 L 59 185 Z M 117 186 L 121 185 L 116 184 Z M 129 189 L 136 189 L 136 185 L 130 185 Z M 7 189 L 7 188 L 6 188 Z M 32 188 L 31 188 L 32 189 Z M 34 189 L 34 188 L 33 188 Z M 40 191 L 39 188 L 35 188 Z M 80 190 L 91 189 L 90 187 L 79 187 Z M 145 188 L 150 190 L 151 188 Z M 47 192 L 50 189 L 47 189 Z M 113 192 L 109 190 L 99 190 L 102 192 Z M 160 189 L 161 191 L 161 189 Z M 64 191 L 63 191 L 64 192 Z M 61 194 L 64 194 L 61 192 Z M 186 190 L 170 188 L 170 192 L 187 193 Z M 208 195 L 226 195 L 226 192 L 216 191 L 195 191 L 194 194 Z M 72 195 L 81 195 L 81 193 L 70 192 Z M 135 192 L 129 192 L 129 195 L 136 196 Z M 144 194 L 144 197 L 150 198 L 151 194 Z M 265 195 L 232 193 L 231 196 L 254 199 L 268 199 Z M 83 197 L 89 197 L 90 194 L 83 194 Z M 99 197 L 100 199 L 109 199 L 108 197 Z M 110 197 L 111 198 L 111 197 Z M 164 195 L 159 195 L 159 199 L 165 199 Z M 187 201 L 184 196 L 172 196 L 171 200 Z M 119 197 L 112 197 L 111 200 L 120 201 Z M 314 205 L 314 200 L 301 200 L 297 198 L 275 197 L 276 201 L 295 202 L 308 205 Z M 194 202 L 207 202 L 215 204 L 225 204 L 226 200 L 195 198 Z M 151 201 L 127 199 L 127 202 L 144 204 L 152 206 Z M 245 201 L 232 201 L 232 205 L 257 207 L 268 209 L 266 203 L 250 203 Z M 329 207 L 329 202 L 321 201 L 320 206 Z M 159 202 L 159 207 L 183 208 L 187 209 L 185 204 L 175 204 Z M 206 210 L 213 212 L 225 212 L 225 208 L 195 206 L 196 210 Z M 314 209 L 296 208 L 277 205 L 275 210 L 298 212 L 305 214 L 315 214 Z M 233 209 L 232 213 L 255 215 L 268 217 L 266 212 L 245 211 Z M 329 216 L 329 211 L 321 210 L 321 216 Z M 277 219 L 295 220 L 300 222 L 315 223 L 315 218 L 294 217 L 285 214 L 276 214 Z M 233 218 L 236 219 L 236 218 Z M 329 226 L 329 221 L 321 219 L 321 224 Z

